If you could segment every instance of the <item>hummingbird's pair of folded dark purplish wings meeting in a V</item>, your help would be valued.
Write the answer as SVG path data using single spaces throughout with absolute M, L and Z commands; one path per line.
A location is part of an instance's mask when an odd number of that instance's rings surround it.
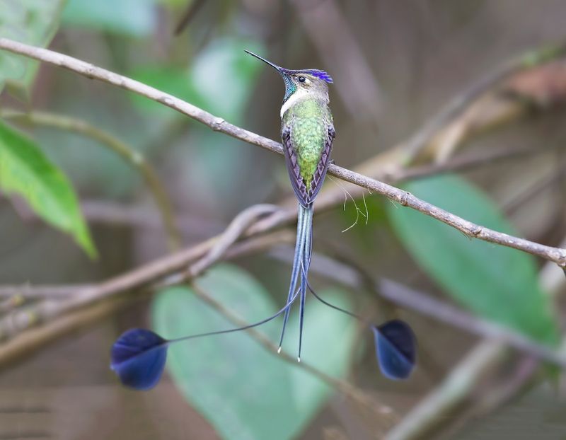
M 320 154 L 318 166 L 313 174 L 311 185 L 310 187 L 306 187 L 306 183 L 301 177 L 301 168 L 299 166 L 296 150 L 291 141 L 291 125 L 284 125 L 282 128 L 281 138 L 283 141 L 283 150 L 289 179 L 291 180 L 291 186 L 293 187 L 297 199 L 299 199 L 299 202 L 304 207 L 308 207 L 314 202 L 318 191 L 320 191 L 320 187 L 323 185 L 326 171 L 330 165 L 330 151 L 332 150 L 335 136 L 334 126 L 330 123 L 326 132 L 324 148 Z

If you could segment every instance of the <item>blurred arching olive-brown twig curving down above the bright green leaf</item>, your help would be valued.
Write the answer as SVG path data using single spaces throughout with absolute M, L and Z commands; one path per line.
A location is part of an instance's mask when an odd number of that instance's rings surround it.
M 173 250 L 180 248 L 182 242 L 180 231 L 175 223 L 175 214 L 173 213 L 173 207 L 171 206 L 167 191 L 161 184 L 154 168 L 146 161 L 140 151 L 132 149 L 125 144 L 125 142 L 112 136 L 112 134 L 74 117 L 47 112 L 18 112 L 17 110 L 0 110 L 0 117 L 82 134 L 83 136 L 90 137 L 108 146 L 108 148 L 124 158 L 127 163 L 138 170 L 143 176 L 161 214 L 161 220 L 167 233 L 170 248 Z

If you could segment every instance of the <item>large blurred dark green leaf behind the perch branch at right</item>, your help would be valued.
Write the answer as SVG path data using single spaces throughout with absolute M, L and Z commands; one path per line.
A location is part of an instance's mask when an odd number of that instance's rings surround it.
M 461 178 L 418 180 L 404 189 L 476 224 L 519 235 L 487 195 Z M 550 301 L 538 285 L 531 255 L 472 240 L 412 209 L 391 205 L 388 214 L 412 257 L 463 306 L 541 342 L 558 341 Z

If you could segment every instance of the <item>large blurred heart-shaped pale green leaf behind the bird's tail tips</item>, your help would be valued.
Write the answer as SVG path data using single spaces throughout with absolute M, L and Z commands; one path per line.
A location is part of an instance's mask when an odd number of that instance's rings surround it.
M 279 308 L 258 282 L 233 266 L 216 267 L 198 283 L 250 323 Z M 343 292 L 322 294 L 339 306 L 348 306 Z M 297 349 L 296 312 L 285 338 L 290 352 Z M 159 294 L 152 316 L 156 331 L 164 337 L 234 327 L 190 289 L 181 287 Z M 327 374 L 343 376 L 354 342 L 354 323 L 318 301 L 307 302 L 305 319 L 302 359 Z M 281 325 L 282 320 L 277 319 L 258 329 L 277 343 Z M 267 352 L 246 332 L 173 345 L 168 370 L 181 393 L 207 417 L 219 436 L 231 440 L 295 438 L 331 393 L 318 378 Z

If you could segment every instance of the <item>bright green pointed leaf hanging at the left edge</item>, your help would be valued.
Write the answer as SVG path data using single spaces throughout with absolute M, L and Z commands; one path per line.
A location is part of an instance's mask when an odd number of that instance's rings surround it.
M 0 190 L 23 197 L 47 223 L 71 234 L 91 257 L 96 249 L 67 177 L 35 143 L 0 122 Z

